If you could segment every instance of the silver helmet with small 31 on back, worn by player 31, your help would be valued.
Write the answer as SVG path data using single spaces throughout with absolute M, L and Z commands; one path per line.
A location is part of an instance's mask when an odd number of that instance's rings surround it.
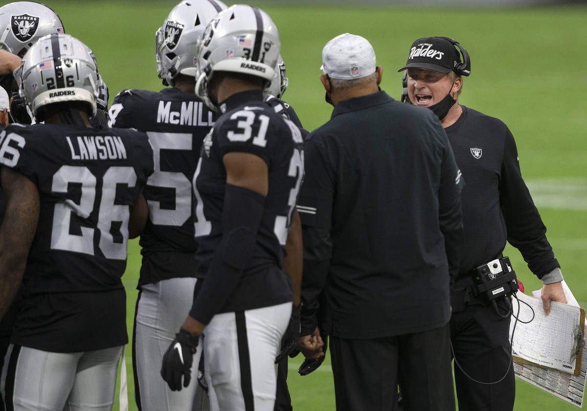
M 215 72 L 235 72 L 265 80 L 269 86 L 279 56 L 279 33 L 261 9 L 244 4 L 230 6 L 206 27 L 198 43 L 198 74 L 195 93 L 210 109 L 210 81 Z

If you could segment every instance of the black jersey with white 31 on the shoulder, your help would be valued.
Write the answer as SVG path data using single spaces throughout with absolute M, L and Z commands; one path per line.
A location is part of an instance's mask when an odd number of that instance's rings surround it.
M 303 140 L 291 120 L 264 102 L 260 91 L 237 93 L 225 104 L 225 113 L 204 140 L 194 174 L 200 277 L 205 278 L 222 240 L 222 203 L 227 177 L 222 163 L 224 154 L 239 151 L 261 157 L 268 166 L 269 191 L 255 252 L 223 312 L 291 301 L 291 288 L 282 262 L 303 179 Z

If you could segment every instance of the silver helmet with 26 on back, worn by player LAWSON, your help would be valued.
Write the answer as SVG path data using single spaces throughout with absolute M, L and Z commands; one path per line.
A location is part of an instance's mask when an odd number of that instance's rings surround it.
M 59 102 L 85 102 L 89 116 L 96 114 L 96 60 L 75 37 L 51 34 L 39 39 L 22 59 L 21 76 L 20 94 L 37 122 L 45 119 L 43 106 Z

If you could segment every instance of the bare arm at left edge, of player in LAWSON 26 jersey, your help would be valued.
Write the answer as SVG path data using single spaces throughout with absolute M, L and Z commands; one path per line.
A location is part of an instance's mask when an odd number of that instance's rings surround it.
M 35 184 L 6 167 L 1 173 L 6 214 L 0 228 L 0 319 L 21 284 L 39 221 L 39 191 Z

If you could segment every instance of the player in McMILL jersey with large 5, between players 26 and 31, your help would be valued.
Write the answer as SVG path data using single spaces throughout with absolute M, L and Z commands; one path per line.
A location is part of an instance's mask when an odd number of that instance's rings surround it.
M 194 401 L 197 409 L 202 406 L 198 384 L 171 392 L 159 371 L 194 298 L 198 261 L 191 179 L 202 140 L 216 118 L 194 93 L 195 43 L 225 8 L 217 0 L 176 5 L 155 39 L 158 76 L 171 87 L 158 93 L 123 90 L 110 106 L 110 124 L 147 132 L 155 153 L 155 173 L 143 192 L 149 220 L 140 238 L 143 261 L 133 337 L 135 399 L 143 411 L 191 411 Z

